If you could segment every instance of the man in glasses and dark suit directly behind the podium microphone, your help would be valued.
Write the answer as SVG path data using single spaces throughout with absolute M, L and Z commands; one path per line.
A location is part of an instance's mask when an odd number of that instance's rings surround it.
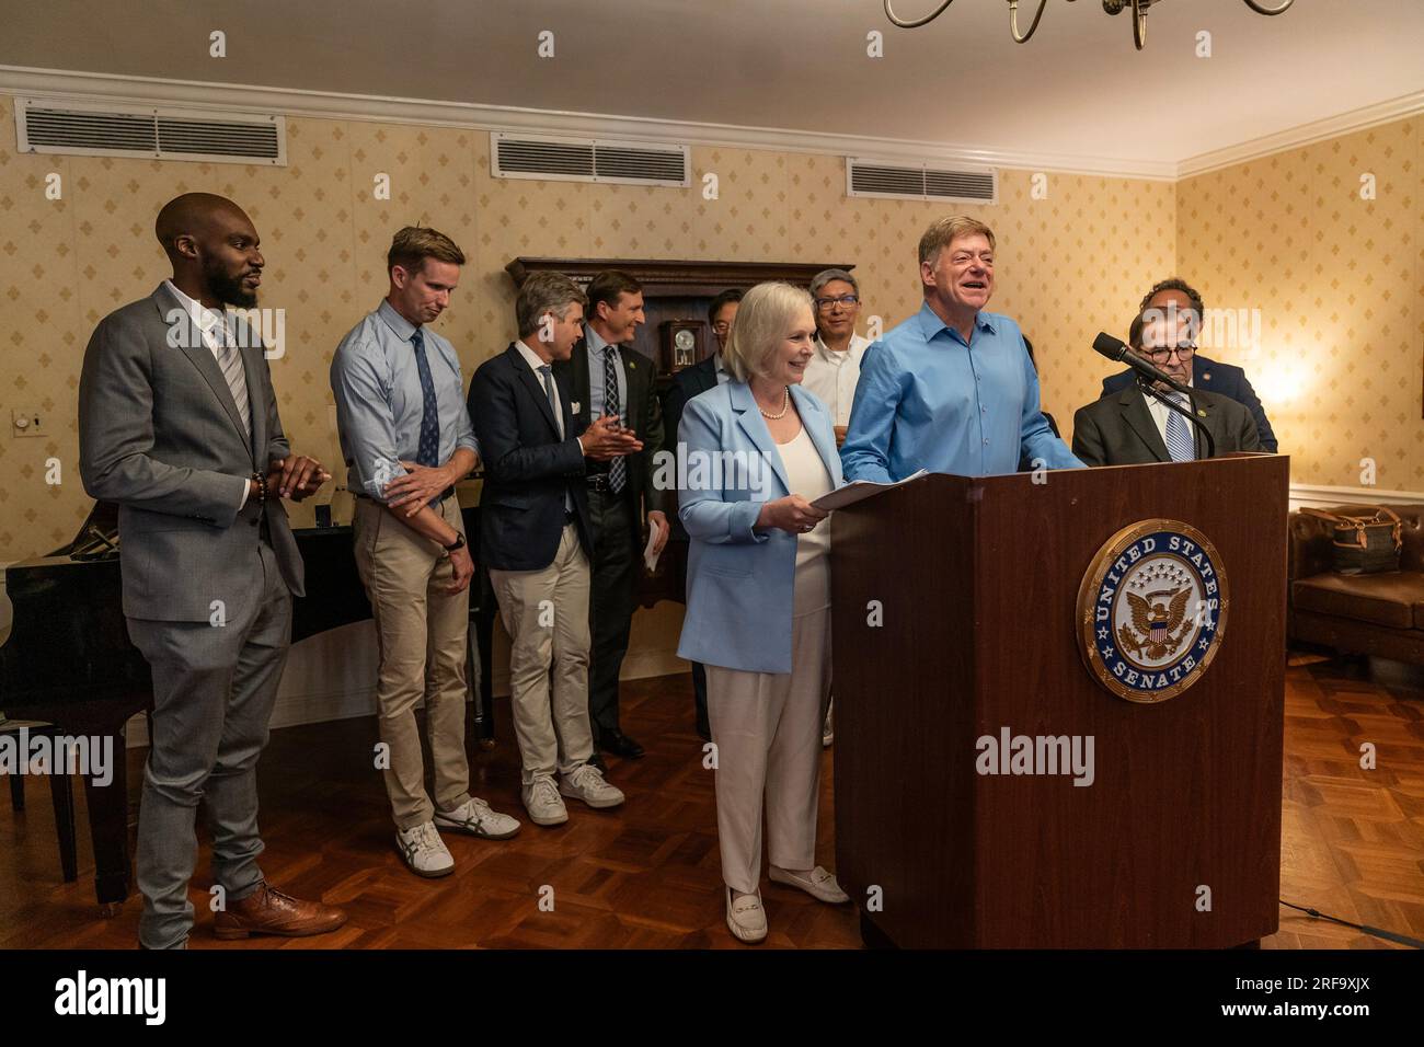
M 1182 385 L 1192 385 L 1192 329 L 1182 316 L 1145 311 L 1132 321 L 1128 343 Z M 1216 454 L 1262 450 L 1250 409 L 1218 393 L 1192 387 L 1190 403 L 1171 389 L 1162 397 L 1190 410 L 1216 442 Z M 1089 466 L 1138 466 L 1149 462 L 1192 462 L 1209 457 L 1205 439 L 1190 422 L 1136 382 L 1079 407 L 1072 420 L 1072 453 Z

